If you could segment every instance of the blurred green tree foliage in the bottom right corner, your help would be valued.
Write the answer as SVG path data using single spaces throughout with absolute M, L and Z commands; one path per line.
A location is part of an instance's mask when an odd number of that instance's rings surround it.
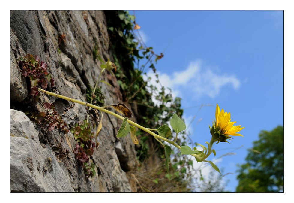
M 236 192 L 281 192 L 284 190 L 284 127 L 261 131 L 253 142 L 246 164 L 238 170 Z

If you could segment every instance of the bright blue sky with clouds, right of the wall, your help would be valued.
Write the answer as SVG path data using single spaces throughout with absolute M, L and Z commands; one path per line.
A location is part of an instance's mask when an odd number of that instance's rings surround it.
M 244 137 L 214 145 L 216 158 L 244 145 L 235 155 L 217 160 L 223 174 L 234 173 L 225 177 L 230 180 L 226 189 L 234 192 L 236 165 L 245 162 L 259 132 L 284 123 L 283 11 L 135 11 L 135 15 L 145 44 L 157 54 L 164 52 L 155 67 L 161 84 L 182 98 L 186 124 L 201 104 L 213 105 L 203 106 L 196 115 L 188 129 L 192 140 L 210 141 L 208 124 L 216 104 L 231 113 L 235 125 L 245 127 L 240 132 Z M 154 78 L 152 71 L 146 72 Z

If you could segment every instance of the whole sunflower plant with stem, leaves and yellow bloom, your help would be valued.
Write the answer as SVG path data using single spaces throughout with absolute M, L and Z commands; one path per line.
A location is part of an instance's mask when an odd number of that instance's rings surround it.
M 180 152 L 182 155 L 191 155 L 194 156 L 196 158 L 197 162 L 208 162 L 210 163 L 210 165 L 212 166 L 212 168 L 214 168 L 217 172 L 220 173 L 219 168 L 211 161 L 206 160 L 211 153 L 214 154 L 214 156 L 216 155 L 216 152 L 214 149 L 212 149 L 212 145 L 217 142 L 216 144 L 218 144 L 219 142 L 228 142 L 227 140 L 232 139 L 231 136 L 242 136 L 241 134 L 238 134 L 236 132 L 239 132 L 240 130 L 242 130 L 243 128 L 241 128 L 241 126 L 233 126 L 233 124 L 235 122 L 231 122 L 230 117 L 231 114 L 224 112 L 224 110 L 222 109 L 220 111 L 219 106 L 217 105 L 216 111 L 215 111 L 215 120 L 213 122 L 212 127 L 209 126 L 210 129 L 210 133 L 211 133 L 211 140 L 210 142 L 205 142 L 205 144 L 207 144 L 207 147 L 205 147 L 204 145 L 201 144 L 197 144 L 202 147 L 202 151 L 198 151 L 196 149 L 196 147 L 193 148 L 193 150 L 189 147 L 189 146 L 179 146 L 178 144 L 176 144 L 177 141 L 177 136 L 180 132 L 184 131 L 186 129 L 186 125 L 184 123 L 184 121 L 179 118 L 179 116 L 175 113 L 173 114 L 173 117 L 170 120 L 170 126 L 173 128 L 174 132 L 176 133 L 176 138 L 174 140 L 169 140 L 167 139 L 167 137 L 169 137 L 170 133 L 171 133 L 171 129 L 169 126 L 167 126 L 166 124 L 163 126 L 160 126 L 158 129 L 150 129 L 150 128 L 145 128 L 137 123 L 134 123 L 131 120 L 128 120 L 128 117 L 132 117 L 132 114 L 130 112 L 130 109 L 125 108 L 126 106 L 123 104 L 118 104 L 118 105 L 110 105 L 111 107 L 115 108 L 117 111 L 119 111 L 120 113 L 124 114 L 125 117 L 122 117 L 116 113 L 113 113 L 112 111 L 108 111 L 105 109 L 105 107 L 98 107 L 92 104 L 89 104 L 87 102 L 81 102 L 79 100 L 73 99 L 73 98 L 69 98 L 69 97 L 65 97 L 59 94 L 55 94 L 53 92 L 48 92 L 44 89 L 39 89 L 39 91 L 48 94 L 48 95 L 52 95 L 58 98 L 62 98 L 71 102 L 75 102 L 78 104 L 82 104 L 82 105 L 86 105 L 88 107 L 91 108 L 95 108 L 99 111 L 101 111 L 101 120 L 103 118 L 103 112 L 107 113 L 107 114 L 111 114 L 121 120 L 123 120 L 121 127 L 118 130 L 118 133 L 116 135 L 116 137 L 118 138 L 123 138 L 125 136 L 127 136 L 130 133 L 130 138 L 131 140 L 135 143 L 137 143 L 137 137 L 136 137 L 136 127 L 148 132 L 150 135 L 152 135 L 163 147 L 165 150 L 165 157 L 166 157 L 166 161 L 165 161 L 165 165 L 167 166 L 167 173 L 169 172 L 169 163 L 170 163 L 170 155 L 171 155 L 171 147 L 169 145 L 163 144 L 162 141 L 165 141 L 167 143 L 172 144 L 173 146 L 177 147 L 178 149 L 180 149 Z M 95 136 L 95 140 L 97 139 L 97 136 L 102 128 L 102 124 L 100 125 L 100 123 L 102 123 L 100 120 L 98 128 L 97 128 L 97 132 L 96 132 L 96 136 Z M 131 124 L 131 125 L 130 125 Z M 100 126 L 100 127 L 99 127 Z M 154 132 L 158 132 L 159 135 L 155 134 Z M 162 140 L 162 141 L 161 141 Z

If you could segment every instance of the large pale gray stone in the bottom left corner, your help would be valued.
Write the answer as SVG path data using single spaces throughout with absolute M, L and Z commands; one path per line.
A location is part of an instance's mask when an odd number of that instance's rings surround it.
M 74 192 L 67 169 L 38 136 L 23 112 L 10 109 L 10 192 Z

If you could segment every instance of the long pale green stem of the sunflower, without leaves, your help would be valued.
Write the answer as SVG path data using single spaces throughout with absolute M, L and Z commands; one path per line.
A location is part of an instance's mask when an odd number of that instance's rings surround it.
M 95 105 L 89 104 L 88 102 L 81 102 L 81 101 L 79 101 L 79 100 L 76 100 L 76 99 L 73 99 L 73 98 L 69 98 L 69 97 L 65 97 L 65 96 L 62 96 L 62 95 L 59 95 L 59 94 L 56 94 L 56 93 L 53 93 L 53 92 L 48 92 L 48 91 L 46 91 L 46 90 L 44 90 L 44 89 L 40 89 L 40 88 L 39 88 L 39 91 L 40 91 L 40 92 L 43 92 L 43 93 L 45 93 L 45 94 L 51 95 L 51 96 L 55 96 L 55 97 L 58 97 L 58 98 L 61 98 L 61 99 L 68 100 L 68 101 L 70 101 L 70 102 L 75 102 L 75 103 L 78 103 L 78 104 L 81 104 L 81 105 L 86 105 L 86 106 L 88 106 L 88 107 L 90 107 L 90 108 L 98 109 L 99 111 L 104 111 L 105 113 L 107 113 L 107 114 L 111 114 L 111 115 L 113 115 L 113 116 L 115 116 L 115 117 L 117 117 L 117 118 L 119 118 L 119 119 L 121 119 L 121 120 L 124 120 L 124 119 L 125 119 L 125 117 L 122 117 L 122 116 L 120 116 L 120 115 L 118 115 L 118 114 L 116 114 L 116 113 L 113 113 L 112 111 L 108 111 L 107 109 L 101 108 L 101 107 L 99 107 L 99 106 L 95 106 Z M 145 128 L 145 127 L 140 126 L 139 124 L 137 124 L 137 123 L 135 123 L 135 122 L 133 122 L 133 121 L 131 121 L 131 120 L 127 120 L 127 121 L 128 121 L 128 123 L 130 123 L 131 125 L 136 126 L 137 128 L 140 128 L 141 130 L 144 130 L 145 132 L 148 132 L 150 135 L 154 136 L 155 138 L 158 138 L 158 139 L 161 139 L 161 140 L 163 140 L 163 141 L 166 141 L 166 142 L 172 144 L 173 146 L 175 146 L 175 147 L 181 149 L 181 146 L 175 144 L 173 141 L 170 141 L 170 140 L 168 140 L 167 138 L 164 138 L 164 137 L 162 137 L 162 136 L 160 136 L 160 135 L 157 135 L 157 134 L 155 134 L 154 132 L 151 132 L 151 131 L 150 131 L 150 130 L 155 130 L 155 129 Z M 210 142 L 211 142 L 211 144 L 208 145 L 208 153 L 207 153 L 207 155 L 205 156 L 205 158 L 207 158 L 207 157 L 211 154 L 211 146 L 212 146 L 214 140 L 211 139 Z M 196 154 L 191 154 L 191 156 L 194 156 L 194 157 L 196 157 L 196 158 L 199 159 L 199 160 L 204 160 L 204 156 L 203 156 L 203 157 L 199 157 L 199 155 L 196 155 Z

